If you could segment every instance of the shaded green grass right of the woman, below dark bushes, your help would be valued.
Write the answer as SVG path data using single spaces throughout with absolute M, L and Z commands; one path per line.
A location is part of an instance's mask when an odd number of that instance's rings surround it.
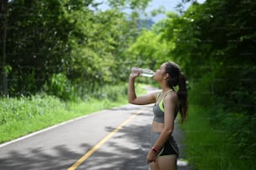
M 241 158 L 241 153 L 234 152 L 236 145 L 228 140 L 228 132 L 213 127 L 206 109 L 190 106 L 190 115 L 182 125 L 185 132 L 187 159 L 198 170 L 253 170 L 255 158 Z M 218 123 L 217 123 L 218 124 Z

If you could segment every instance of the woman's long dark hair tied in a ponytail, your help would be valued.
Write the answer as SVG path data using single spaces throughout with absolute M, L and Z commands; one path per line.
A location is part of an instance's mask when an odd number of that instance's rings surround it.
M 169 87 L 176 87 L 178 85 L 179 89 L 177 95 L 180 100 L 179 112 L 181 113 L 182 122 L 187 118 L 187 85 L 186 78 L 181 72 L 181 68 L 174 62 L 166 62 L 165 73 L 170 74 L 170 78 L 167 81 Z

